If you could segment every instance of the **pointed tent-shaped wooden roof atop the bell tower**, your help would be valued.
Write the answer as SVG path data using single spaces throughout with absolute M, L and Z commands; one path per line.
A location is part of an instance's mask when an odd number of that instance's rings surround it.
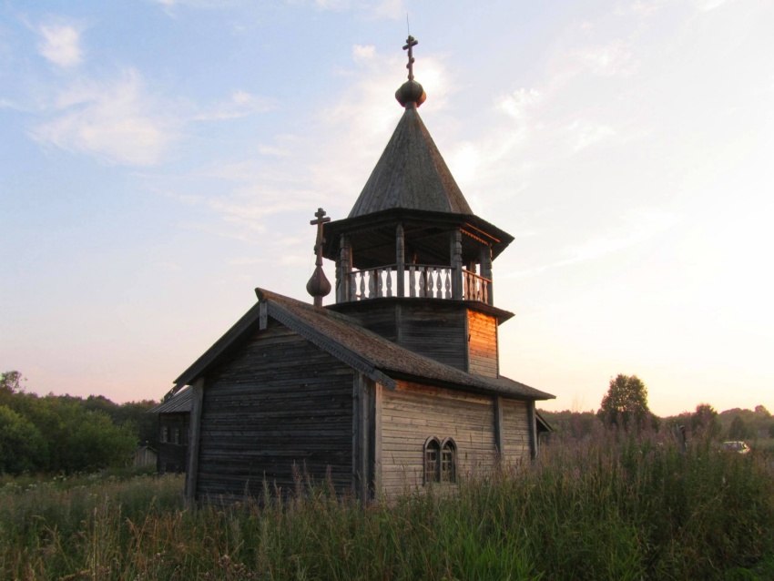
M 407 107 L 350 218 L 384 209 L 473 214 L 416 107 Z

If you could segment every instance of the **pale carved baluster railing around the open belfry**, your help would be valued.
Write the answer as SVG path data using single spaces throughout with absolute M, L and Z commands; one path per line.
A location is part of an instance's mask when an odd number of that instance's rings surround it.
M 374 269 L 352 270 L 344 274 L 340 302 L 363 301 L 382 297 L 418 297 L 452 299 L 454 270 L 449 266 L 407 264 L 399 277 L 394 264 Z M 402 285 L 400 279 L 402 278 Z M 465 301 L 489 303 L 492 280 L 463 270 L 462 298 Z

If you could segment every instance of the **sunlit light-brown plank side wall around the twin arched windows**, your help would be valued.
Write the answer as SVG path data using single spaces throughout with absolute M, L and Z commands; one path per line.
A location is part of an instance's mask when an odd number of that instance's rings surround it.
M 399 382 L 382 391 L 382 492 L 388 497 L 423 485 L 424 443 L 430 436 L 457 444 L 457 474 L 494 466 L 491 397 Z

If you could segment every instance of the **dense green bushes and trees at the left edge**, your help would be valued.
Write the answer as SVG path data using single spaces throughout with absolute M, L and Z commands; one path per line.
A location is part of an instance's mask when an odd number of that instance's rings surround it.
M 118 405 L 25 392 L 20 372 L 0 373 L 0 474 L 92 472 L 127 464 L 138 443 L 156 441 L 152 401 Z

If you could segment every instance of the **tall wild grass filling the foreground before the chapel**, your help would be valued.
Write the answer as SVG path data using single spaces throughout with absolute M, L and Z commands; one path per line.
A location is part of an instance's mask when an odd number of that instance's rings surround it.
M 535 464 L 365 507 L 324 483 L 194 507 L 176 476 L 11 482 L 0 489 L 0 576 L 772 578 L 770 463 L 600 431 L 552 443 Z

